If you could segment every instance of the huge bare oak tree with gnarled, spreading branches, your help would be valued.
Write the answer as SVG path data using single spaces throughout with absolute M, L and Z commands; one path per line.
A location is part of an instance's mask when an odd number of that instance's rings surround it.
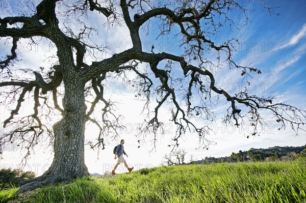
M 266 7 L 264 3 L 262 5 Z M 272 8 L 267 11 L 273 13 Z M 130 38 L 133 46 L 104 59 L 96 57 L 96 53 L 104 51 L 105 47 L 90 40 L 90 34 L 95 31 L 95 27 L 88 26 L 85 20 L 90 12 L 98 13 L 100 17 L 94 20 L 105 20 L 109 29 L 114 24 L 126 26 L 129 33 L 122 37 Z M 5 98 L 3 105 L 15 105 L 3 124 L 11 130 L 1 135 L 1 149 L 8 143 L 23 144 L 29 155 L 33 146 L 45 136 L 49 136 L 54 148 L 49 169 L 34 182 L 21 187 L 19 192 L 89 175 L 84 162 L 86 123 L 92 122 L 100 129 L 97 142 L 90 144 L 92 148 L 101 149 L 104 149 L 105 137 L 123 127 L 119 122 L 120 115 L 114 113 L 114 101 L 107 100 L 104 95 L 104 81 L 109 77 L 120 77 L 137 85 L 137 97 L 146 100 L 143 113 L 149 119 L 140 126 L 139 136 L 153 132 L 156 140 L 158 133 L 163 132 L 160 130 L 163 129 L 160 109 L 170 106 L 169 119 L 177 126 L 172 138 L 173 147 L 179 146 L 186 131 L 197 133 L 204 147 L 209 144 L 207 134 L 210 128 L 198 126 L 194 121 L 214 118 L 211 111 L 213 96 L 224 97 L 227 101 L 226 124 L 241 127 L 247 118 L 256 129 L 265 125 L 261 112 L 266 110 L 273 113 L 274 121 L 281 128 L 289 125 L 296 133 L 303 130 L 305 111 L 277 103 L 272 97 L 251 95 L 247 90 L 231 95 L 216 86 L 212 69 L 221 64 L 228 71 L 241 70 L 243 77 L 262 72 L 234 61 L 236 39 L 211 40 L 211 36 L 225 24 L 231 28 L 238 26 L 231 19 L 233 12 L 240 12 L 248 21 L 247 9 L 233 0 L 42 0 L 33 13 L 0 18 L 1 40 L 11 43 L 11 53 L 0 62 L 1 94 Z M 77 20 L 82 28 L 71 28 L 69 18 Z M 144 51 L 140 29 L 146 27 L 147 32 L 153 32 L 152 20 L 160 29 L 159 37 L 175 36 L 185 52 L 180 55 L 158 52 L 154 46 L 150 51 Z M 21 54 L 18 42 L 23 39 L 28 39 L 30 46 L 37 45 L 39 40 L 54 45 L 57 52 L 49 57 L 56 63 L 50 63 L 48 69 L 16 67 L 20 64 L 17 62 Z M 216 55 L 214 60 L 208 57 L 211 52 Z M 86 60 L 88 57 L 93 59 L 91 64 Z M 141 68 L 143 64 L 147 65 L 146 69 Z M 207 68 L 208 64 L 211 68 Z M 129 79 L 127 72 L 134 72 L 137 77 Z M 29 105 L 30 102 L 23 104 L 29 100 L 33 100 L 34 112 L 18 117 L 21 106 Z M 103 105 L 100 122 L 93 116 L 98 104 Z M 156 106 L 151 108 L 152 104 Z M 46 121 L 57 114 L 61 115 L 61 120 L 50 128 Z

